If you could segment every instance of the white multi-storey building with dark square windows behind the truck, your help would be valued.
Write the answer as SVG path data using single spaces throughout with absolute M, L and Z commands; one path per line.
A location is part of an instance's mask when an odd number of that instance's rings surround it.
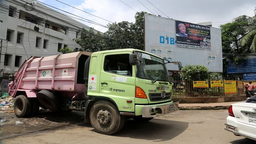
M 31 56 L 56 55 L 63 47 L 81 48 L 73 39 L 79 37 L 79 29 L 89 26 L 39 3 L 33 9 L 23 1 L 0 0 L 0 70 L 14 73 Z

